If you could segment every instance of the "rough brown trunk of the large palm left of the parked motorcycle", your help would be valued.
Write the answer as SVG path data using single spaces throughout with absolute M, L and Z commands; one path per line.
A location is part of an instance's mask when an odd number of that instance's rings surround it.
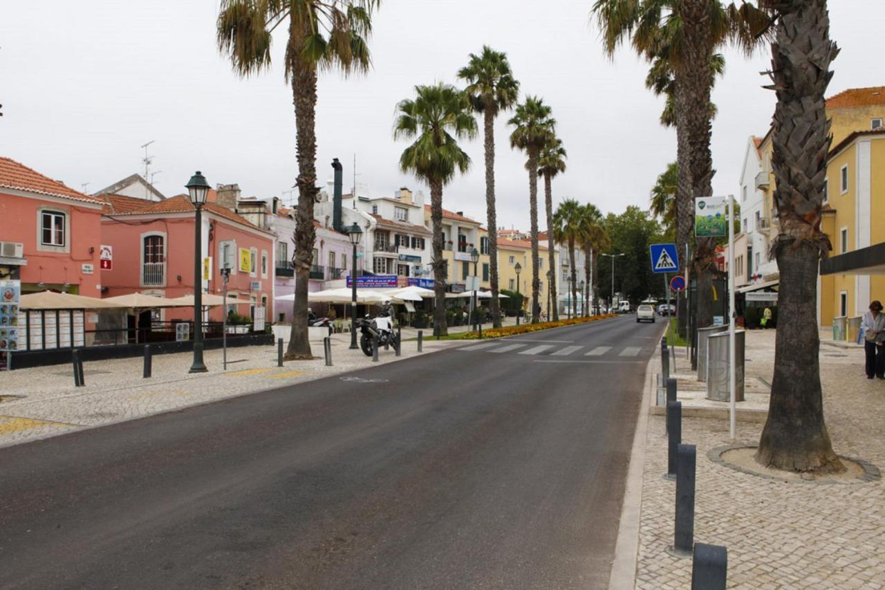
M 301 31 L 293 24 L 289 35 L 301 38 Z M 289 43 L 296 43 L 290 41 Z M 313 260 L 313 204 L 317 195 L 317 136 L 315 114 L 317 107 L 317 73 L 295 57 L 290 65 L 292 71 L 292 98 L 295 104 L 296 154 L 298 160 L 298 206 L 295 228 L 295 302 L 292 304 L 292 331 L 286 361 L 313 358 L 311 343 L 307 336 L 307 285 Z

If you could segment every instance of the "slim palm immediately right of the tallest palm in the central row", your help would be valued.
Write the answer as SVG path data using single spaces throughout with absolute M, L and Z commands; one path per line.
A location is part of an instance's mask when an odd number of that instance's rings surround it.
M 541 291 L 541 278 L 538 276 L 538 159 L 544 145 L 556 133 L 556 120 L 550 117 L 550 107 L 544 105 L 543 98 L 526 97 L 526 102 L 517 105 L 516 113 L 507 121 L 514 127 L 510 134 L 510 145 L 528 155 L 528 202 L 531 219 L 532 240 L 532 323 L 540 321 L 541 306 L 538 304 L 538 291 Z

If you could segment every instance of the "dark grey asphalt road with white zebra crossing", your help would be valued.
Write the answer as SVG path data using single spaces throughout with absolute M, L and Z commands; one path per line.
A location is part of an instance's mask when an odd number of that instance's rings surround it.
M 0 587 L 603 588 L 661 330 L 629 315 L 0 449 Z

